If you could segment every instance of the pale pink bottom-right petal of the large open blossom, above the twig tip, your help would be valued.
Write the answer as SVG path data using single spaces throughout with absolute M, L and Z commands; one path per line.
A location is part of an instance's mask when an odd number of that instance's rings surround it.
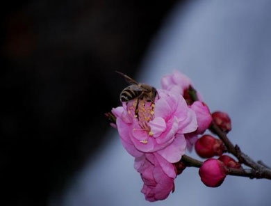
M 186 138 L 183 134 L 176 134 L 174 141 L 168 145 L 165 149 L 159 150 L 158 154 L 161 154 L 163 158 L 171 163 L 180 161 L 181 156 L 186 152 Z

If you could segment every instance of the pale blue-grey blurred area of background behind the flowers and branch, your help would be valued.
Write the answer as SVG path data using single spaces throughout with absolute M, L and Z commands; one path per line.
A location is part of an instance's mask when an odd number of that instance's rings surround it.
M 211 111 L 231 116 L 229 137 L 243 152 L 271 165 L 271 2 L 190 1 L 175 6 L 151 41 L 137 79 L 160 87 L 164 74 L 180 70 L 204 96 Z M 133 158 L 122 148 L 117 131 L 63 196 L 49 205 L 262 205 L 271 204 L 270 180 L 227 177 L 208 188 L 197 168 L 187 168 L 169 198 L 148 203 Z M 192 153 L 192 156 L 195 156 Z

